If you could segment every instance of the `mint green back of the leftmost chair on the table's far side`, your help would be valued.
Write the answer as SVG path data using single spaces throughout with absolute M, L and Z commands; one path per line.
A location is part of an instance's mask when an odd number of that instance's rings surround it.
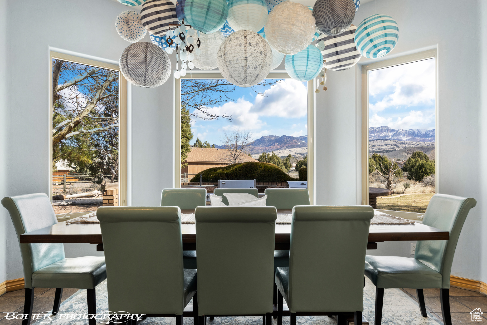
M 181 210 L 194 210 L 206 206 L 206 189 L 163 189 L 162 207 L 179 207 Z

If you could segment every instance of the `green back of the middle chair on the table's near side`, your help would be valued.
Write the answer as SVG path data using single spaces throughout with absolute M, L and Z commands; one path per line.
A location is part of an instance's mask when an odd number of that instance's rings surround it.
M 198 313 L 272 312 L 274 207 L 198 207 Z

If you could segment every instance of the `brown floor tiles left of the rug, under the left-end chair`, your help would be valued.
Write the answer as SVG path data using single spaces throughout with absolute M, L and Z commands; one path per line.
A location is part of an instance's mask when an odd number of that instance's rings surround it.
M 64 289 L 62 292 L 61 302 L 68 299 L 79 289 Z M 35 288 L 34 289 L 34 312 L 39 313 L 43 311 L 53 310 L 54 295 L 56 289 L 51 288 Z M 25 289 L 6 292 L 0 296 L 0 325 L 17 325 L 21 324 L 21 320 L 7 320 L 5 319 L 5 312 L 24 311 Z

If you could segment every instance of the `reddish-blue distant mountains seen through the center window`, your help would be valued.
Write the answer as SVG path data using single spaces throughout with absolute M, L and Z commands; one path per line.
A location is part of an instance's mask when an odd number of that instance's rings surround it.
M 217 146 L 216 148 L 225 148 L 224 146 Z M 254 153 L 273 152 L 281 149 L 303 148 L 308 147 L 308 136 L 292 136 L 292 135 L 263 135 L 261 138 L 252 141 L 245 151 Z

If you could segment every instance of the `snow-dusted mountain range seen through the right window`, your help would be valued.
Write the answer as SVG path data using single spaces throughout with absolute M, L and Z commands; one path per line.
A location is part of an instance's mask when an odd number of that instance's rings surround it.
M 369 128 L 369 140 L 376 139 L 434 142 L 434 129 L 394 130 L 388 126 L 371 126 Z

